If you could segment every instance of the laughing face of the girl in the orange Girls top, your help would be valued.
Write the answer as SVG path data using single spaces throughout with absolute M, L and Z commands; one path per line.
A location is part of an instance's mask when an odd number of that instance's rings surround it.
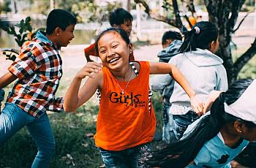
M 118 70 L 129 62 L 131 45 L 116 31 L 108 31 L 98 41 L 99 57 L 103 66 Z

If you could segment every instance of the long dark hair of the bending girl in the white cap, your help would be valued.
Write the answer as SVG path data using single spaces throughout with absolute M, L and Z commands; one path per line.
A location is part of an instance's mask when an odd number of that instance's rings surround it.
M 225 123 L 231 123 L 241 118 L 236 118 L 224 110 L 224 102 L 232 104 L 248 88 L 253 80 L 239 80 L 230 85 L 227 92 L 221 93 L 219 98 L 211 106 L 211 114 L 206 115 L 195 129 L 184 140 L 170 143 L 166 148 L 155 151 L 150 159 L 151 166 L 157 167 L 187 167 L 191 163 L 204 143 L 215 137 Z M 242 120 L 241 120 L 242 121 Z M 244 121 L 246 126 L 255 124 Z

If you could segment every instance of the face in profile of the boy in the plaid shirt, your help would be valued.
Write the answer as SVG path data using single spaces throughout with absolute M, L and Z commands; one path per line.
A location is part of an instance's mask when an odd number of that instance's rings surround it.
M 71 24 L 67 26 L 67 28 L 63 31 L 59 28 L 59 32 L 57 33 L 57 47 L 67 47 L 70 41 L 75 37 L 74 36 L 75 25 Z

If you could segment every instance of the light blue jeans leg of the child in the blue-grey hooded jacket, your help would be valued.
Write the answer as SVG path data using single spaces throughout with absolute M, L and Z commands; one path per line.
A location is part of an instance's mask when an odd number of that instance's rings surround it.
M 170 143 L 176 140 L 174 129 L 173 115 L 170 114 L 170 105 L 163 104 L 162 106 L 162 140 Z

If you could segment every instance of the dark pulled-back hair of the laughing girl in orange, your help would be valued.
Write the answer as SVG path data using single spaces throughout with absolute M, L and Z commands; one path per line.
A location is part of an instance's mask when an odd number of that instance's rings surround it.
M 104 34 L 108 33 L 109 31 L 116 32 L 116 33 L 120 34 L 121 38 L 124 39 L 124 41 L 127 43 L 127 45 L 129 45 L 129 43 L 130 43 L 129 37 L 127 35 L 127 32 L 124 31 L 122 28 L 115 28 L 115 27 L 107 28 L 104 31 L 100 32 L 99 35 L 96 38 L 96 41 L 95 41 L 95 53 L 97 54 L 97 56 L 99 56 L 99 46 L 98 46 L 99 39 Z

